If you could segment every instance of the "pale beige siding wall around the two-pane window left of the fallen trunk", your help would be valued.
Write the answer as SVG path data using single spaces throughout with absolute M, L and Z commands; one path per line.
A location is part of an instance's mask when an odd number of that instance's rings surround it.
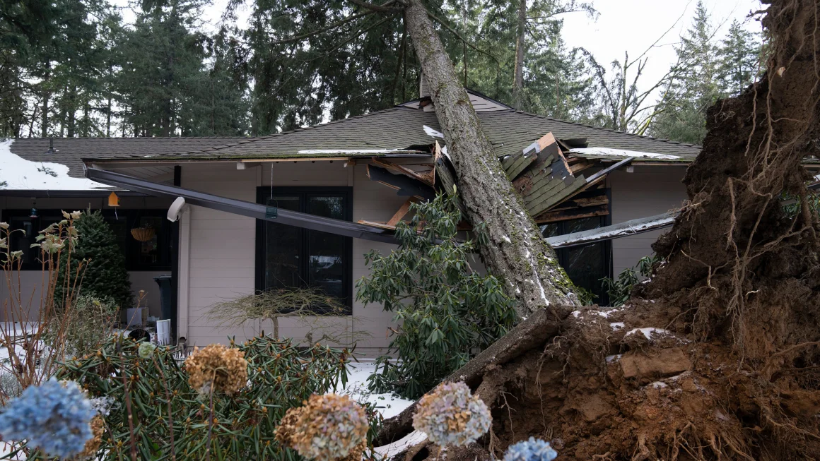
M 353 187 L 353 221 L 388 220 L 407 197 L 367 178 L 365 165 L 349 165 L 336 160 L 299 162 L 267 162 L 247 169 L 236 169 L 234 163 L 193 164 L 182 167 L 182 187 L 223 197 L 256 201 L 256 188 L 276 187 Z M 188 219 L 186 224 L 185 219 Z M 185 253 L 186 225 L 189 225 L 189 255 Z M 216 210 L 192 206 L 183 217 L 180 232 L 180 319 L 179 335 L 189 345 L 205 346 L 212 342 L 236 341 L 253 337 L 259 332 L 272 332 L 270 321 L 248 322 L 239 328 L 225 328 L 208 319 L 207 313 L 221 301 L 253 293 L 255 288 L 256 224 L 254 219 Z M 367 273 L 363 255 L 376 248 L 389 251 L 391 246 L 353 239 L 353 280 Z M 184 266 L 187 259 L 189 286 L 184 287 Z M 186 310 L 187 306 L 187 310 Z M 281 319 L 280 335 L 303 339 L 307 332 L 321 323 L 334 332 L 348 332 L 358 341 L 357 350 L 366 355 L 378 355 L 389 343 L 386 329 L 392 314 L 379 305 L 354 302 L 353 315 L 321 319 Z M 314 332 L 314 340 L 321 337 Z

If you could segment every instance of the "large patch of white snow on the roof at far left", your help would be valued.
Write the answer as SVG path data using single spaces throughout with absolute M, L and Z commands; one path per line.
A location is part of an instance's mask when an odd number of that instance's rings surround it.
M 68 166 L 25 160 L 11 153 L 13 140 L 0 141 L 0 190 L 90 191 L 111 189 L 90 179 L 72 178 Z

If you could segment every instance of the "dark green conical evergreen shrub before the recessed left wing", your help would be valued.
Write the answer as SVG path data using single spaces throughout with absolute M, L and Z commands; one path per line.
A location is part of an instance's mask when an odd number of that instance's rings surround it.
M 116 242 L 111 227 L 99 211 L 90 211 L 75 220 L 77 242 L 71 255 L 66 251 L 60 256 L 60 277 L 57 282 L 55 299 L 62 302 L 65 292 L 65 272 L 70 268 L 74 272 L 81 260 L 87 260 L 84 266 L 81 294 L 98 299 L 110 299 L 126 309 L 132 305 L 131 281 L 125 270 L 125 255 Z M 71 258 L 71 260 L 69 260 Z

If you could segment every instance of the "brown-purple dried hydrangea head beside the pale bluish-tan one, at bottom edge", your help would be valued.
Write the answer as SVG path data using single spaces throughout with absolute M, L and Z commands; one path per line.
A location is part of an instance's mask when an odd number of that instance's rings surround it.
M 308 459 L 361 459 L 367 427 L 364 409 L 347 395 L 311 395 L 304 406 L 288 409 L 276 440 Z

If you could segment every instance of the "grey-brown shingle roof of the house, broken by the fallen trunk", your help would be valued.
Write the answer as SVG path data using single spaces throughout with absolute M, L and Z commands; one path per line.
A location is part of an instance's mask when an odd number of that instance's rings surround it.
M 699 146 L 522 111 L 479 112 L 478 116 L 499 156 L 521 151 L 549 132 L 558 139 L 587 138 L 590 147 L 668 154 L 680 156 L 683 161 L 694 160 L 700 151 Z M 435 112 L 396 106 L 259 138 L 54 138 L 54 148 L 58 151 L 54 155 L 47 153 L 48 138 L 20 138 L 12 143 L 11 152 L 26 160 L 68 165 L 71 176 L 82 177 L 83 160 L 271 158 L 317 156 L 315 152 L 300 154 L 299 151 L 422 148 L 437 139 L 426 133 L 425 125 L 440 130 Z

